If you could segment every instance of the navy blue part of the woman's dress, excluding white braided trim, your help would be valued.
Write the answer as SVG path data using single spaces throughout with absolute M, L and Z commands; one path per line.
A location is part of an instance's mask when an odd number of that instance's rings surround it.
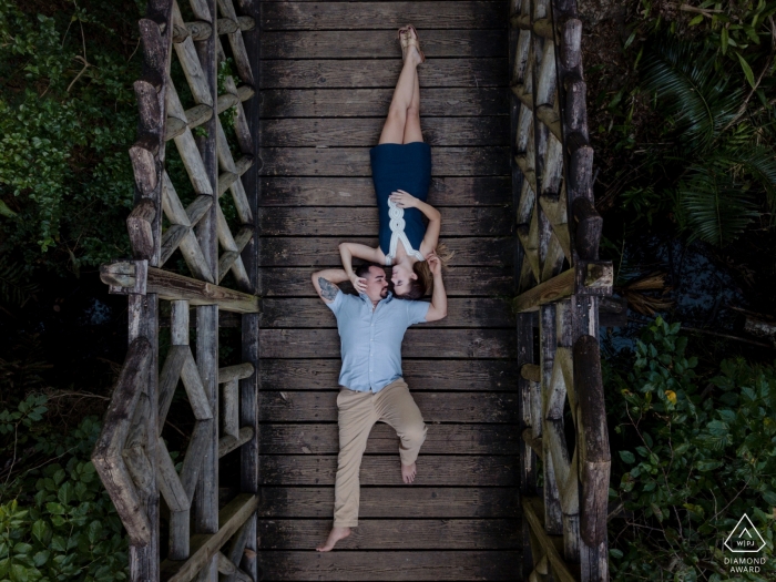
M 381 143 L 369 151 L 369 157 L 380 211 L 380 248 L 387 255 L 391 234 L 388 197 L 404 190 L 426 202 L 431 186 L 431 147 L 426 142 Z M 422 216 L 418 208 L 405 208 L 405 234 L 416 251 L 426 235 Z

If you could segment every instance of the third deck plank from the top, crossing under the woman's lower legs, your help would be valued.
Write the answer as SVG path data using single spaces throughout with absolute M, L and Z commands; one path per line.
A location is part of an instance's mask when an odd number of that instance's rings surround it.
M 347 6 L 347 4 L 346 4 Z M 365 89 L 395 86 L 399 59 L 264 61 L 261 86 L 267 89 Z M 504 59 L 436 59 L 418 74 L 421 94 L 429 86 L 504 86 Z

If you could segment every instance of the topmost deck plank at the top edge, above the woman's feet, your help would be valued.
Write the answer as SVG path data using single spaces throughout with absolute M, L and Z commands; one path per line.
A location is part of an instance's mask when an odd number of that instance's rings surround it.
M 396 30 L 407 22 L 422 29 L 503 29 L 504 2 L 266 2 L 263 30 Z

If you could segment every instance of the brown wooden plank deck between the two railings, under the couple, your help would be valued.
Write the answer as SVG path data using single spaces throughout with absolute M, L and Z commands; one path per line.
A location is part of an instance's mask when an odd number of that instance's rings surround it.
M 262 2 L 259 566 L 265 581 L 520 580 L 508 2 Z M 329 554 L 339 337 L 309 275 L 376 244 L 369 147 L 412 22 L 429 202 L 457 252 L 449 316 L 408 330 L 405 378 L 429 426 L 416 484 L 377 425 L 360 527 Z

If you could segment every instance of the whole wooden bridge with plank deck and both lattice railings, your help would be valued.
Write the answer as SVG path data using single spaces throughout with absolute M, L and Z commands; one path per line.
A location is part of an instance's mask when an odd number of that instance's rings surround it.
M 456 252 L 449 316 L 404 344 L 429 425 L 416 483 L 376 426 L 359 528 L 320 554 L 340 363 L 309 275 L 344 239 L 376 244 L 369 149 L 408 22 L 428 59 L 429 202 Z M 93 456 L 132 580 L 606 580 L 595 337 L 611 265 L 574 0 L 150 0 L 140 30 L 134 257 L 101 269 L 127 295 L 131 343 Z M 165 146 L 191 184 L 167 175 Z M 219 367 L 218 326 L 235 321 L 243 363 Z M 161 427 L 183 391 L 196 423 L 177 472 Z

